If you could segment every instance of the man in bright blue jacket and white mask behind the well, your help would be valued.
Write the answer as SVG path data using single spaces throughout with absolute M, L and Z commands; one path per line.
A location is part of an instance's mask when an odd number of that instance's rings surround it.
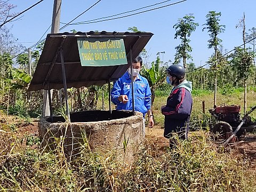
M 138 56 L 132 62 L 134 109 L 143 114 L 143 136 L 145 136 L 146 113 L 149 117 L 149 127 L 154 126 L 154 120 L 151 113 L 151 91 L 147 79 L 139 74 L 141 66 L 142 59 Z M 132 110 L 130 68 L 115 82 L 113 89 L 111 90 L 111 101 L 117 105 L 116 110 Z

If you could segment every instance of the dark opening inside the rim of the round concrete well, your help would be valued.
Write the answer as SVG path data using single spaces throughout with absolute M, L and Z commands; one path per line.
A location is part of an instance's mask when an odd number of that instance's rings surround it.
M 70 121 L 73 122 L 97 122 L 108 121 L 111 119 L 119 119 L 132 116 L 132 111 L 113 110 L 111 115 L 109 111 L 105 110 L 90 110 L 90 111 L 78 111 L 70 114 Z M 46 119 L 47 122 L 57 123 L 65 122 L 65 118 L 62 116 L 52 116 Z

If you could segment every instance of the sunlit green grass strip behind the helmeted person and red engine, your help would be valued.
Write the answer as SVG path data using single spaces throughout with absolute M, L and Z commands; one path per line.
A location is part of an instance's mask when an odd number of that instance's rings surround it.
M 255 95 L 256 92 L 254 92 L 254 89 L 250 88 L 250 91 L 247 93 L 247 111 L 256 105 Z M 203 129 L 209 129 L 209 122 L 211 121 L 209 109 L 213 108 L 213 92 L 194 90 L 192 97 L 193 109 L 191 114 L 191 128 L 193 129 L 194 127 L 198 128 L 203 126 Z M 218 92 L 217 105 L 240 105 L 241 114 L 243 114 L 243 98 L 244 93 L 241 88 L 234 90 L 234 92 L 229 95 L 224 95 L 221 94 L 221 92 Z M 164 126 L 164 116 L 161 114 L 161 106 L 166 105 L 166 100 L 167 96 L 159 96 L 155 98 L 155 102 L 153 103 L 155 122 L 156 125 L 159 125 L 160 127 Z M 203 101 L 205 101 L 205 114 L 203 114 Z M 251 113 L 250 116 L 252 119 L 256 119 L 256 110 Z

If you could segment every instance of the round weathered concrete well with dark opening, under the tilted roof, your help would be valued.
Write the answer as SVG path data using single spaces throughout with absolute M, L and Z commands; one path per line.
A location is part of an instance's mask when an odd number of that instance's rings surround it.
M 70 114 L 70 121 L 65 123 L 61 116 L 53 116 L 52 121 L 50 117 L 41 119 L 38 130 L 42 146 L 54 149 L 58 138 L 65 138 L 63 148 L 67 156 L 79 154 L 84 143 L 90 150 L 114 149 L 119 157 L 125 157 L 125 162 L 132 162 L 143 141 L 143 119 L 139 112 L 132 115 L 132 111 L 113 110 L 110 115 L 105 110 L 79 111 Z

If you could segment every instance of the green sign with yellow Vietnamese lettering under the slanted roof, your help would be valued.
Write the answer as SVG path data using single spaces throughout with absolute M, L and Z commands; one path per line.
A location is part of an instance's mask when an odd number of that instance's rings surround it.
M 123 39 L 77 38 L 82 66 L 101 67 L 127 64 Z

